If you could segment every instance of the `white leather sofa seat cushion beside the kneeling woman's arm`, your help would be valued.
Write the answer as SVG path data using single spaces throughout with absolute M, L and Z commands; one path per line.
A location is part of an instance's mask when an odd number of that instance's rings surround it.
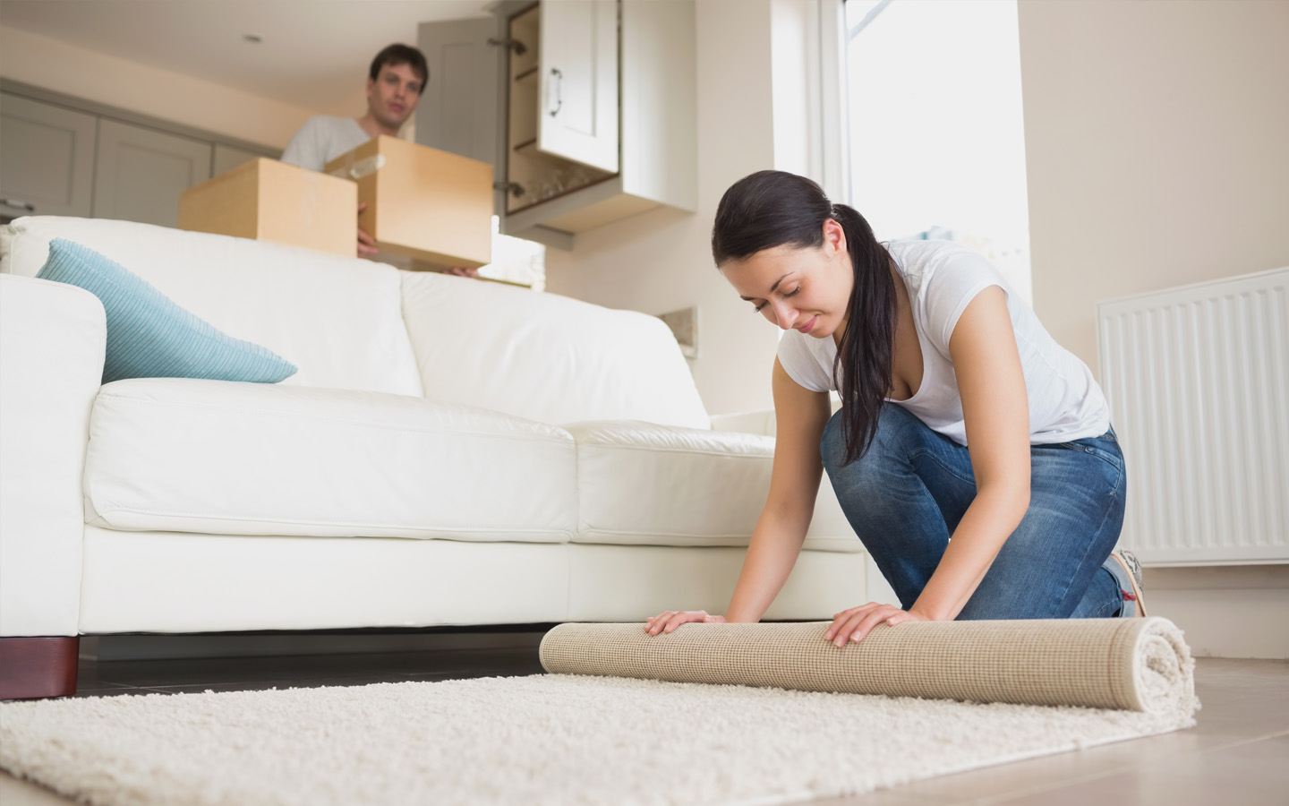
M 748 544 L 770 493 L 772 437 L 626 420 L 566 428 L 577 442 L 574 543 Z M 831 495 L 826 480 L 820 487 Z M 862 551 L 834 509 L 816 504 L 804 548 Z

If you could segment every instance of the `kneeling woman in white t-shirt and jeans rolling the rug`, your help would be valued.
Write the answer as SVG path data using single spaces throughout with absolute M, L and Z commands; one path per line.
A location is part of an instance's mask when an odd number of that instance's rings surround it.
M 825 468 L 902 605 L 838 613 L 825 633 L 837 646 L 879 623 L 1138 613 L 1136 560 L 1111 555 L 1125 476 L 1101 388 L 985 258 L 947 241 L 880 244 L 809 179 L 768 170 L 726 192 L 712 254 L 786 331 L 770 496 L 724 616 L 666 611 L 650 634 L 759 620 Z

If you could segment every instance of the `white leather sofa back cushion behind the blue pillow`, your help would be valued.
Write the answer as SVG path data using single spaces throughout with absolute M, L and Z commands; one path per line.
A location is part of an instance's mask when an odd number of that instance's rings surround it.
M 103 218 L 0 227 L 0 271 L 35 276 L 62 237 L 116 260 L 223 333 L 299 368 L 290 386 L 420 395 L 398 271 L 267 241 Z

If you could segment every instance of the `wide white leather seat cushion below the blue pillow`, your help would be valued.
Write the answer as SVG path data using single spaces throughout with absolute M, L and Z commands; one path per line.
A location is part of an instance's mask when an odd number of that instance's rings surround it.
M 572 437 L 401 395 L 146 378 L 102 388 L 86 521 L 237 535 L 566 542 Z

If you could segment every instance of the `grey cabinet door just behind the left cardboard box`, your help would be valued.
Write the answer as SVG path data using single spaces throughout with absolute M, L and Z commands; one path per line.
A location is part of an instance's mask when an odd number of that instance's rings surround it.
M 98 125 L 94 218 L 174 227 L 179 196 L 210 178 L 211 144 L 116 120 Z

